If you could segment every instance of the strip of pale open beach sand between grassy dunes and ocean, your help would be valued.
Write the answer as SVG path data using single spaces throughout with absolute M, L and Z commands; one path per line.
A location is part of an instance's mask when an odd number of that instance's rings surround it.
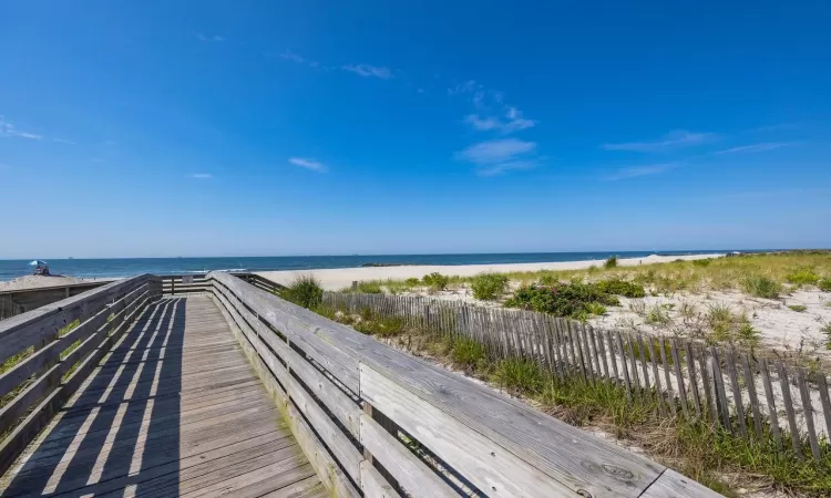
M 706 258 L 719 258 L 724 253 L 690 255 L 690 256 L 648 256 L 646 258 L 618 259 L 618 266 L 629 267 L 637 264 L 660 263 L 675 261 L 676 259 L 694 260 Z M 320 280 L 326 290 L 340 290 L 351 286 L 353 281 L 367 280 L 403 280 L 409 278 L 420 279 L 425 274 L 439 272 L 447 276 L 472 277 L 484 272 L 507 273 L 512 271 L 540 271 L 540 270 L 582 270 L 591 266 L 602 266 L 604 260 L 586 261 L 557 261 L 538 263 L 511 263 L 511 264 L 460 264 L 460 266 L 402 266 L 402 267 L 369 267 L 369 268 L 332 268 L 324 270 L 306 271 L 261 271 L 258 274 L 277 283 L 288 284 L 297 273 L 312 273 Z

